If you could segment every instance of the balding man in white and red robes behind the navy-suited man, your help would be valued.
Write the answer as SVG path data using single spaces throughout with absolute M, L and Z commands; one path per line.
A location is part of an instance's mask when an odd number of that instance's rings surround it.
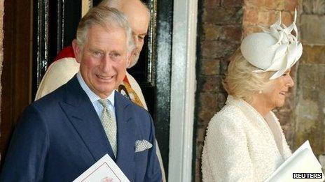
M 99 6 L 116 8 L 127 17 L 127 20 L 132 29 L 132 38 L 136 45 L 132 55 L 132 61 L 127 67 L 132 68 L 132 66 L 134 66 L 139 60 L 139 54 L 144 45 L 144 38 L 147 35 L 148 25 L 150 21 L 150 11 L 146 5 L 139 0 L 104 0 L 99 3 Z M 46 96 L 48 93 L 67 83 L 69 79 L 78 73 L 78 70 L 79 63 L 76 62 L 72 47 L 64 47 L 64 49 L 59 52 L 55 58 L 55 61 L 50 64 L 48 70 L 46 70 L 46 73 L 43 76 L 41 83 L 39 84 L 39 88 L 36 92 L 35 100 Z M 123 82 L 117 86 L 116 90 L 132 100 L 133 103 L 136 103 L 137 105 L 148 110 L 139 84 L 129 73 L 126 72 Z M 161 158 L 157 142 L 156 146 L 157 156 L 163 172 L 163 181 L 166 181 L 163 160 Z

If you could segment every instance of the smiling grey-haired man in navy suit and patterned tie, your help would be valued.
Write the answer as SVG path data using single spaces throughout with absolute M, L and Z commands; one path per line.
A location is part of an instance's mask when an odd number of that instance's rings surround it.
M 73 181 L 106 153 L 130 181 L 162 181 L 151 116 L 114 91 L 134 48 L 126 18 L 92 8 L 72 45 L 79 73 L 25 109 L 0 181 Z

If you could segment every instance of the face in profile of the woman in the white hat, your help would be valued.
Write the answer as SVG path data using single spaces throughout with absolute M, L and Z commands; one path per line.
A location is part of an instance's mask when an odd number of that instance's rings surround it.
M 286 70 L 281 77 L 270 82 L 268 89 L 265 89 L 265 91 L 261 93 L 266 107 L 272 109 L 275 107 L 282 107 L 289 88 L 292 87 L 293 84 L 293 80 L 290 76 L 290 69 Z

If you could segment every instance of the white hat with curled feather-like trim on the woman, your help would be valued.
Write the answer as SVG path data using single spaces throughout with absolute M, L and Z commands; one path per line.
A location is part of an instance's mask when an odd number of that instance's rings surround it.
M 255 73 L 276 71 L 270 79 L 280 77 L 286 70 L 291 68 L 303 54 L 303 45 L 298 42 L 298 31 L 296 26 L 296 10 L 294 22 L 286 27 L 279 20 L 270 26 L 270 29 L 263 29 L 263 32 L 251 33 L 242 40 L 240 50 L 242 56 L 253 66 L 261 70 L 254 70 Z M 296 32 L 296 36 L 291 34 Z

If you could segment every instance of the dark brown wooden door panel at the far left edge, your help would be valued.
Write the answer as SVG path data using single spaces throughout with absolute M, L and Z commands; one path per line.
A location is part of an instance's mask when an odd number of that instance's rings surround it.
M 22 110 L 32 101 L 32 8 L 33 1 L 4 1 L 1 159 Z

